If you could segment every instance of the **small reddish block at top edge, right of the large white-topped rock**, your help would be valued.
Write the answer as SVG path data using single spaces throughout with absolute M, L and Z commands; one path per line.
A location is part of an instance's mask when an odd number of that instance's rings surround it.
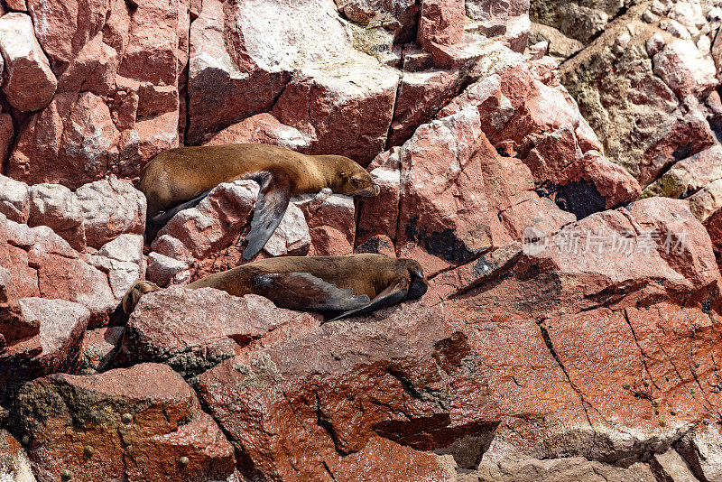
M 429 50 L 430 45 L 452 45 L 464 37 L 464 3 L 458 0 L 423 0 L 416 42 Z

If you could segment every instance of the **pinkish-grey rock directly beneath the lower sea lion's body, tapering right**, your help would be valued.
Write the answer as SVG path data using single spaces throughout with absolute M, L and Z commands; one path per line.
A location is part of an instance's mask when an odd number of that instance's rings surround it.
M 251 348 L 300 336 L 319 322 L 318 315 L 277 309 L 261 296 L 171 287 L 141 298 L 118 357 L 167 363 L 193 376 Z

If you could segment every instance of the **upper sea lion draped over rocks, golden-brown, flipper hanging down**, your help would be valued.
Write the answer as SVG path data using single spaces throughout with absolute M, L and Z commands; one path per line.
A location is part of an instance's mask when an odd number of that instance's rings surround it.
M 368 172 L 342 155 L 307 155 L 268 144 L 176 147 L 155 156 L 141 171 L 138 188 L 148 202 L 146 240 L 150 242 L 178 211 L 198 205 L 221 182 L 239 179 L 261 186 L 245 259 L 263 249 L 292 196 L 324 188 L 361 198 L 379 193 Z

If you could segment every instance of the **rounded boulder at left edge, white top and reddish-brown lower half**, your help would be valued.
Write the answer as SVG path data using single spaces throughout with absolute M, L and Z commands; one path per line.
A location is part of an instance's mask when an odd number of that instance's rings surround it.
M 58 81 L 28 15 L 11 13 L 0 19 L 0 53 L 5 60 L 3 93 L 7 101 L 23 112 L 50 104 Z

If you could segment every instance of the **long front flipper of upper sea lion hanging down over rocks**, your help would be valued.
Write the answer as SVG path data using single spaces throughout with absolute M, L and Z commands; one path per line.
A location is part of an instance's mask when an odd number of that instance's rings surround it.
M 254 218 L 251 230 L 245 236 L 248 245 L 243 252 L 244 259 L 251 259 L 261 251 L 266 241 L 273 236 L 291 199 L 292 180 L 281 172 L 261 172 L 250 179 L 261 185 L 255 200 Z

